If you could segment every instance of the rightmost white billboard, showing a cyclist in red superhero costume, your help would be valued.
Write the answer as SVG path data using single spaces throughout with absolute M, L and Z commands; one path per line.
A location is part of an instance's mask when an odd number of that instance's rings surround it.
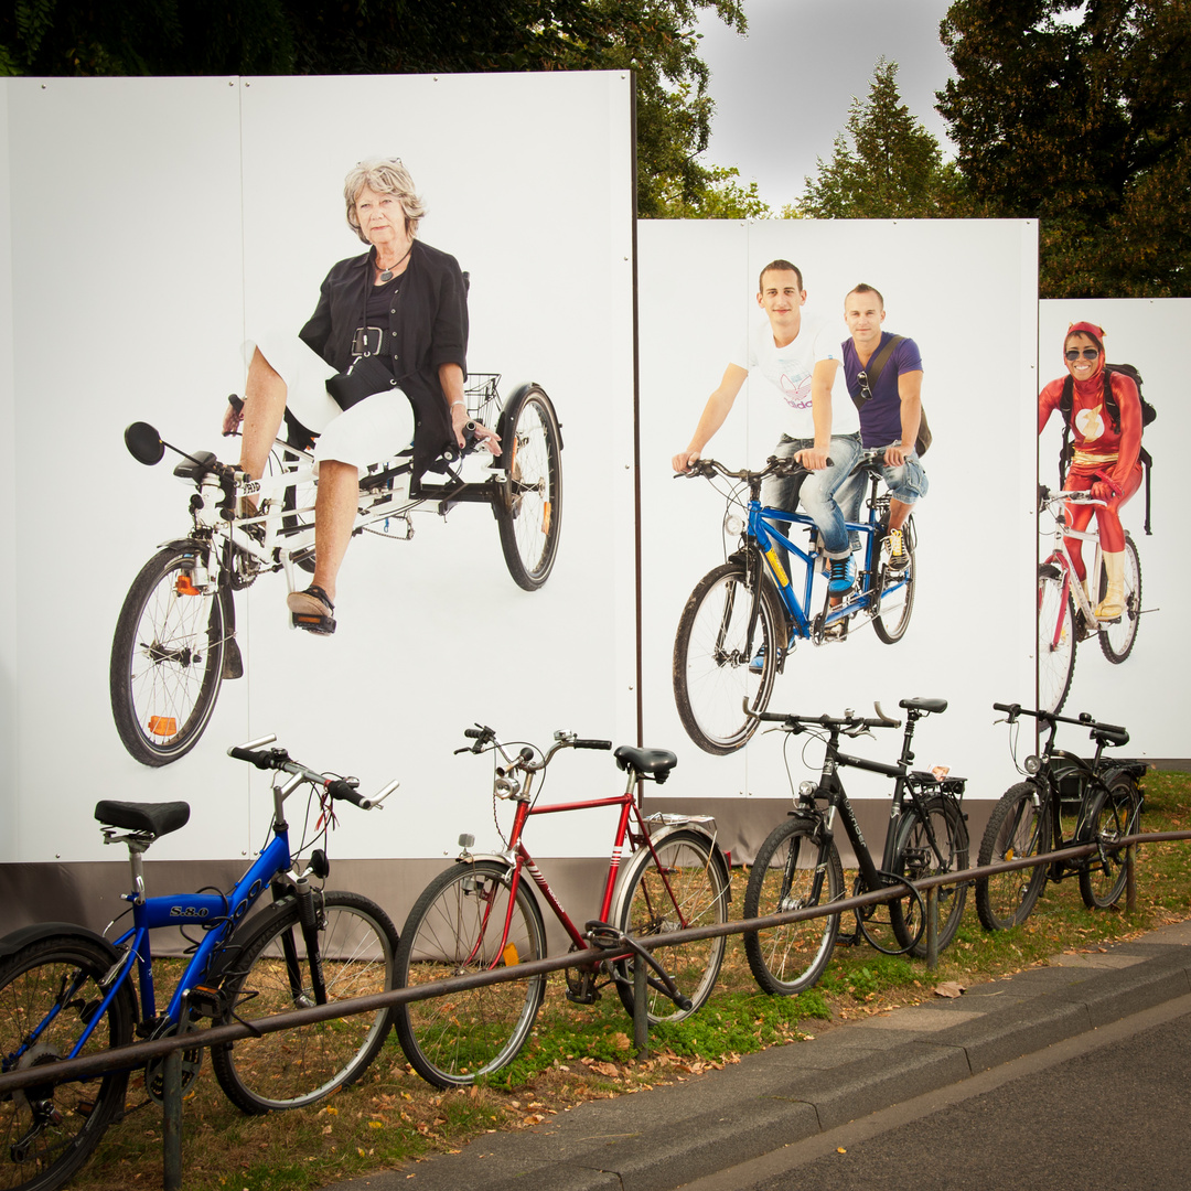
M 1191 642 L 1162 631 L 1185 587 L 1168 545 L 1185 481 L 1162 443 L 1191 434 L 1166 399 L 1189 322 L 1186 299 L 1039 303 L 1039 701 L 1124 724 L 1130 755 L 1155 759 L 1185 752 L 1168 675 Z

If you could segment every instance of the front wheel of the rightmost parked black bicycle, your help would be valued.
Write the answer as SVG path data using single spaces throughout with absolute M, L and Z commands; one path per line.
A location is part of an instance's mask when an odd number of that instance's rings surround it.
M 1035 805 L 1039 799 L 1039 805 Z M 996 865 L 1003 860 L 1037 856 L 1050 842 L 1050 803 L 1033 781 L 1010 786 L 992 809 L 980 841 L 977 863 Z M 1046 865 L 1017 868 L 975 883 L 975 909 L 985 930 L 1019 927 L 1034 909 L 1046 886 Z

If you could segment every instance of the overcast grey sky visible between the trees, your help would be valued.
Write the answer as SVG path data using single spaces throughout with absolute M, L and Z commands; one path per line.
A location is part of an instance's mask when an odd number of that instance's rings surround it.
M 884 55 L 902 100 L 948 149 L 935 92 L 950 76 L 939 23 L 950 0 L 744 0 L 748 35 L 713 13 L 699 25 L 716 114 L 709 166 L 735 166 L 774 213 L 829 161 L 853 95 L 868 95 Z

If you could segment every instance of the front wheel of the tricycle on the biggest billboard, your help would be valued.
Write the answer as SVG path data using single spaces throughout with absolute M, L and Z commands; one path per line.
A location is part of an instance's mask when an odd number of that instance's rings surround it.
M 132 581 L 116 622 L 108 690 L 129 755 L 163 766 L 199 742 L 223 681 L 224 606 L 191 581 L 205 548 L 169 545 Z M 189 590 L 188 590 L 189 588 Z

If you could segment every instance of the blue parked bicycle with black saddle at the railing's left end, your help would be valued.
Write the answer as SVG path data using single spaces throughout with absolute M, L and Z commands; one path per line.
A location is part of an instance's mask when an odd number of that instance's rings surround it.
M 132 868 L 132 927 L 114 943 L 85 927 L 46 922 L 0 940 L 0 1070 L 39 1067 L 43 1083 L 0 1096 L 0 1187 L 50 1191 L 67 1181 L 125 1111 L 129 1068 L 89 1079 L 55 1080 L 64 1059 L 126 1046 L 139 1037 L 176 1034 L 181 1023 L 268 1017 L 287 1010 L 368 996 L 392 989 L 397 930 L 385 911 L 357 893 L 316 888 L 330 869 L 316 848 L 308 867 L 289 850 L 282 804 L 311 787 L 311 836 L 298 852 L 325 842 L 333 803 L 364 810 L 380 804 L 356 791 L 355 779 L 328 777 L 291 761 L 285 749 L 264 749 L 266 736 L 229 754 L 275 769 L 272 840 L 229 893 L 146 897 L 143 856 L 154 840 L 183 827 L 187 803 L 101 802 L 95 818 L 105 843 L 125 843 Z M 273 904 L 241 929 L 244 915 L 268 890 Z M 114 925 L 114 923 L 112 924 Z M 149 931 L 181 927 L 189 962 L 158 1014 Z M 188 935 L 191 928 L 194 934 Z M 111 929 L 111 927 L 108 928 Z M 137 992 L 141 1010 L 137 1011 Z M 251 1003 L 249 1008 L 249 1003 Z M 264 1034 L 211 1048 L 216 1078 L 244 1112 L 297 1108 L 350 1084 L 380 1050 L 392 1010 Z M 182 1089 L 199 1073 L 202 1052 L 182 1052 Z M 145 1068 L 150 1100 L 162 1102 L 164 1060 Z M 148 1103 L 148 1102 L 146 1102 Z

